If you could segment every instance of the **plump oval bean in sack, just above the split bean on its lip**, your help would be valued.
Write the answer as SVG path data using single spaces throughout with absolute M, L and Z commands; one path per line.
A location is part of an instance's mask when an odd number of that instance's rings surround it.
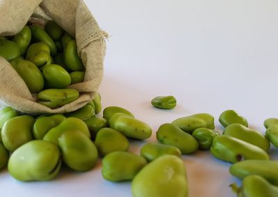
M 57 64 L 45 65 L 42 74 L 45 88 L 67 88 L 72 82 L 67 70 Z

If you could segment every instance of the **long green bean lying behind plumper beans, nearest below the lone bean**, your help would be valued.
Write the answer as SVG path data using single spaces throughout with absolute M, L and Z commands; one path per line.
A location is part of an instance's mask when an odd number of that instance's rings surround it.
M 195 113 L 191 116 L 177 118 L 172 124 L 180 127 L 183 132 L 191 134 L 195 129 L 206 127 L 214 129 L 214 118 L 209 113 Z

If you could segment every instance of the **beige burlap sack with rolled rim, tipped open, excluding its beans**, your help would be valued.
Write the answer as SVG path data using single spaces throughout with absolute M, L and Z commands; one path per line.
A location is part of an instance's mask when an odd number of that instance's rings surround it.
M 0 57 L 0 109 L 11 106 L 24 113 L 65 113 L 83 107 L 93 99 L 103 77 L 106 33 L 82 0 L 1 0 L 0 36 L 19 32 L 29 19 L 45 22 L 54 19 L 76 38 L 77 51 L 85 66 L 82 83 L 70 88 L 79 90 L 78 100 L 57 109 L 49 109 L 36 101 L 10 63 Z

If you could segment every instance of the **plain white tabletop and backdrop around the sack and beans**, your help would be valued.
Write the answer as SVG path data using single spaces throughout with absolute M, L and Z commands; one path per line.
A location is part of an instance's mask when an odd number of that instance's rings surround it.
M 148 123 L 153 135 L 132 141 L 139 152 L 156 141 L 163 123 L 193 113 L 218 117 L 226 109 L 245 116 L 250 127 L 265 132 L 263 120 L 278 118 L 278 1 L 275 0 L 87 0 L 101 29 L 111 37 L 104 79 L 103 107 L 117 105 Z M 174 95 L 173 110 L 155 109 L 153 97 Z M 270 157 L 278 159 L 277 148 Z M 231 164 L 209 151 L 182 157 L 190 197 L 233 197 Z M 20 168 L 20 166 L 19 166 Z M 63 170 L 49 182 L 19 182 L 0 171 L 1 196 L 131 196 L 130 182 L 101 177 L 101 160 L 86 173 Z M 147 196 L 149 197 L 149 196 Z M 151 196 L 150 196 L 151 197 Z M 174 197 L 174 196 L 170 196 Z

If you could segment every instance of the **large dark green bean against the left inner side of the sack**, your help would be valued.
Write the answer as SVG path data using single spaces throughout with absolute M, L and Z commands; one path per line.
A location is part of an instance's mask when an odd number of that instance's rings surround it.
M 12 64 L 13 65 L 13 64 Z M 18 60 L 13 65 L 20 77 L 22 77 L 31 93 L 39 93 L 44 87 L 44 78 L 40 69 L 31 61 Z

